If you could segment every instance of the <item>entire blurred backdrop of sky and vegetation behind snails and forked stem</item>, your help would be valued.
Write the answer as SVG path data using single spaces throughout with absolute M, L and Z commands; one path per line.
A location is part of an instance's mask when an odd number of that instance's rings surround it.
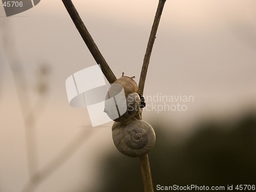
M 73 0 L 117 77 L 140 70 L 158 1 Z M 166 1 L 145 82 L 153 184 L 255 184 L 256 2 Z M 0 7 L 0 191 L 143 191 L 112 122 L 92 127 L 65 81 L 96 65 L 61 1 Z M 154 96 L 158 100 L 153 100 Z M 159 100 L 160 96 L 193 100 Z M 174 109 L 174 108 L 173 108 Z M 254 183 L 253 183 L 254 182 Z

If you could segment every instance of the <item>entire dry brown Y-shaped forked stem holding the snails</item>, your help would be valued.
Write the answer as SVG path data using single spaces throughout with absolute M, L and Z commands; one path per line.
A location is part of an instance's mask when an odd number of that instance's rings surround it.
M 153 49 L 153 45 L 156 38 L 156 33 L 158 29 L 158 25 L 160 22 L 160 17 L 163 11 L 164 3 L 166 0 L 159 0 L 159 4 L 157 7 L 156 16 L 154 19 L 154 23 L 152 26 L 150 38 L 148 40 L 146 53 L 143 60 L 143 65 L 140 74 L 139 80 L 139 93 L 143 95 L 144 84 L 146 80 L 146 73 L 148 64 L 150 63 L 150 57 Z M 93 55 L 95 61 L 100 65 L 103 74 L 105 75 L 106 79 L 110 83 L 113 83 L 116 80 L 116 77 L 112 70 L 110 69 L 108 63 L 106 63 L 105 59 L 101 55 L 98 47 L 96 46 L 92 36 L 90 35 L 89 31 L 87 30 L 86 26 L 84 26 L 78 12 L 76 11 L 73 3 L 71 0 L 62 0 L 63 4 L 65 5 L 66 9 L 68 10 L 77 30 L 79 31 L 80 35 L 82 36 L 84 42 L 86 43 L 88 49 L 90 50 L 91 54 Z M 140 117 L 141 118 L 141 117 Z M 150 162 L 148 160 L 148 155 L 143 155 L 140 157 L 140 166 L 141 166 L 141 173 L 142 173 L 142 180 L 145 192 L 152 192 L 154 191 L 152 177 L 151 177 L 151 170 L 150 170 Z

